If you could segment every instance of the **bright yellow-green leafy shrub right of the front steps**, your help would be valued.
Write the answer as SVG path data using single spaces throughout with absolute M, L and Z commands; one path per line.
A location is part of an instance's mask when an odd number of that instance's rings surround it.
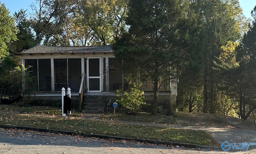
M 132 112 L 139 111 L 142 105 L 146 104 L 143 102 L 144 92 L 140 90 L 141 86 L 141 83 L 133 83 L 129 92 L 123 92 L 122 89 L 116 90 L 116 96 L 118 97 L 116 102 Z

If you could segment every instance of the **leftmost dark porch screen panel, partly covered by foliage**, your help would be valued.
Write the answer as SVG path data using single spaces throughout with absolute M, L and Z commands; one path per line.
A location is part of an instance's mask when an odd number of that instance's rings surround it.
M 25 59 L 25 67 L 30 67 L 28 69 L 30 71 L 29 76 L 33 77 L 31 81 L 26 81 L 26 88 L 38 91 L 37 59 Z

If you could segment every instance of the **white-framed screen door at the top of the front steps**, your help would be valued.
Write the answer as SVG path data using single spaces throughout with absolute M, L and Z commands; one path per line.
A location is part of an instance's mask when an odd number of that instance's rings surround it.
M 100 57 L 91 57 L 86 60 L 88 74 L 88 92 L 101 92 L 101 63 Z

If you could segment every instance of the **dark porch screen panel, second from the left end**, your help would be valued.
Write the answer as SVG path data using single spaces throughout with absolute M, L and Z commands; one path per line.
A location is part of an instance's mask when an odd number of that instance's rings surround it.
M 52 91 L 51 60 L 38 59 L 39 91 Z

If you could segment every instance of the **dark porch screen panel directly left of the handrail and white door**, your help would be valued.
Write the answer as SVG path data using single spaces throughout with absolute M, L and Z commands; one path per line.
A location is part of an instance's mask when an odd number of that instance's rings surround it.
M 68 59 L 68 87 L 78 92 L 81 84 L 81 58 Z

